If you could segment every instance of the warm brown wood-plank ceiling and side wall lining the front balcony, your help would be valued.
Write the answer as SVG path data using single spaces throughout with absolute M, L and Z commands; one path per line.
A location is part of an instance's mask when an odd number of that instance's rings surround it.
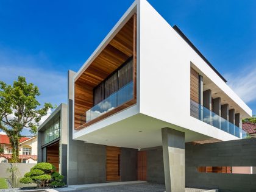
M 75 82 L 74 127 L 85 124 L 85 112 L 93 107 L 93 88 L 132 57 L 135 43 L 136 15 L 119 30 L 102 52 Z

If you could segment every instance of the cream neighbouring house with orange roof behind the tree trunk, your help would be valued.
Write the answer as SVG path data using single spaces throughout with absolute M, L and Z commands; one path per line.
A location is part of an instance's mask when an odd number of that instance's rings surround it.
M 12 158 L 12 147 L 7 135 L 0 135 L 0 145 L 4 149 L 4 154 L 0 154 L 0 162 L 7 163 Z M 21 163 L 37 163 L 37 137 L 21 137 L 18 148 Z

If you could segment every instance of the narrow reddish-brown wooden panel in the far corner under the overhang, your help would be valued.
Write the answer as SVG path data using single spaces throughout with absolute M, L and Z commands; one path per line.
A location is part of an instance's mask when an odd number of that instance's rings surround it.
M 138 180 L 147 180 L 147 152 L 138 151 Z

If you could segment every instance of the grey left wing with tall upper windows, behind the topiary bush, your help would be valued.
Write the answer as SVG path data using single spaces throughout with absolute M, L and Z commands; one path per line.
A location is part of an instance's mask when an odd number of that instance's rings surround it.
M 66 177 L 68 108 L 60 104 L 38 127 L 38 162 L 52 163 Z

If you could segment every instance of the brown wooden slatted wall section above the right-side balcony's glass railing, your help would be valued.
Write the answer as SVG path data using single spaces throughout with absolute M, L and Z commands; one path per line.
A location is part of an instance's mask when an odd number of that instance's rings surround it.
M 190 99 L 199 103 L 199 75 L 190 68 Z

